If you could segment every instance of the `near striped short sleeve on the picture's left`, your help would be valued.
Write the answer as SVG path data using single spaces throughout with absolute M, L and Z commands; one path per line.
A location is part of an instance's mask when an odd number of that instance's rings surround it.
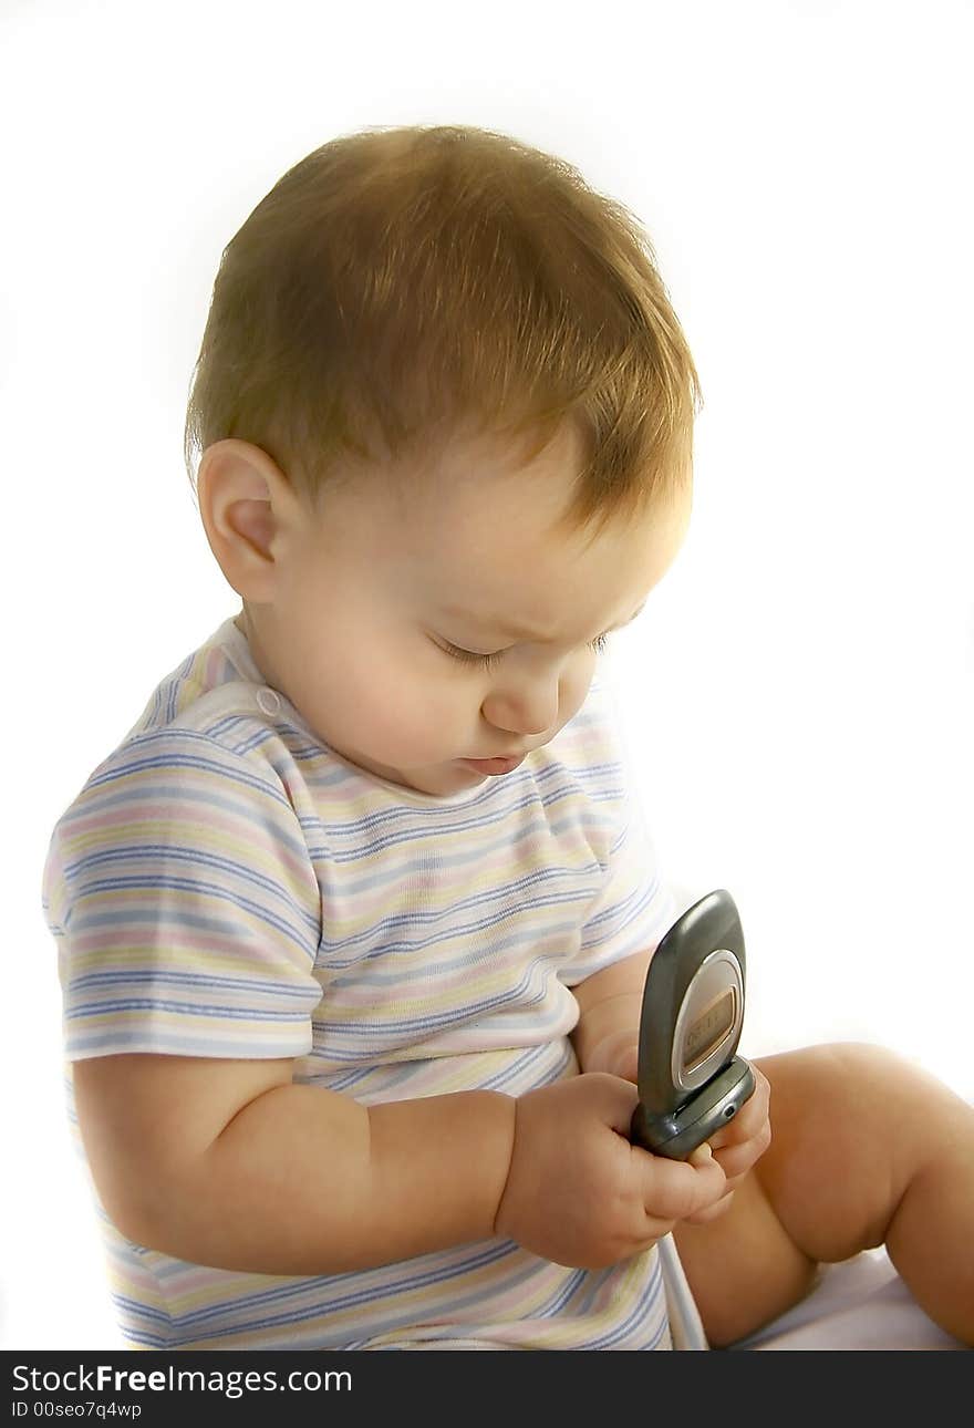
M 54 828 L 43 905 L 69 1061 L 310 1051 L 320 892 L 270 767 L 189 730 L 127 741 Z

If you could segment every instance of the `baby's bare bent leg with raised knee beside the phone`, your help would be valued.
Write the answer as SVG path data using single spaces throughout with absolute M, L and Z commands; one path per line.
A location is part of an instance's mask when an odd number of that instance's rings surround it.
M 878 1047 L 755 1065 L 771 1144 L 724 1215 L 674 1231 L 710 1342 L 797 1304 L 820 1262 L 885 1242 L 927 1314 L 974 1345 L 974 1107 Z

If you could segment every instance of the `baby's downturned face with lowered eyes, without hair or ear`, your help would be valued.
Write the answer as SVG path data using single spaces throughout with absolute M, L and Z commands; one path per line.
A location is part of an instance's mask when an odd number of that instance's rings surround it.
M 401 500 L 380 483 L 337 490 L 317 524 L 287 523 L 274 598 L 239 620 L 267 683 L 396 784 L 448 795 L 504 777 L 467 760 L 554 738 L 586 698 L 594 641 L 638 611 L 688 521 L 687 496 L 588 550 L 551 534 L 578 454 L 568 431 L 520 470 L 483 440 L 454 446 Z

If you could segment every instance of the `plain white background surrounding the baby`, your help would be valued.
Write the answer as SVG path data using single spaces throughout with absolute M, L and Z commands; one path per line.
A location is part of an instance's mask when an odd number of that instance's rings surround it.
M 974 1098 L 973 39 L 943 0 L 7 0 L 0 1344 L 119 1342 L 43 858 L 237 608 L 181 454 L 210 290 L 353 129 L 501 129 L 647 224 L 706 398 L 688 541 L 608 655 L 664 868 L 737 900 L 745 1054 L 878 1041 Z

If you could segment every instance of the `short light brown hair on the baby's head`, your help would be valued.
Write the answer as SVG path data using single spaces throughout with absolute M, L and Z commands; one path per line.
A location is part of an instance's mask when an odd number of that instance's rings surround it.
M 184 456 L 194 484 L 194 453 L 250 441 L 317 506 L 358 463 L 394 474 L 460 431 L 528 461 L 571 420 L 580 531 L 688 486 L 700 404 L 628 208 L 506 134 L 376 127 L 288 169 L 226 246 Z

